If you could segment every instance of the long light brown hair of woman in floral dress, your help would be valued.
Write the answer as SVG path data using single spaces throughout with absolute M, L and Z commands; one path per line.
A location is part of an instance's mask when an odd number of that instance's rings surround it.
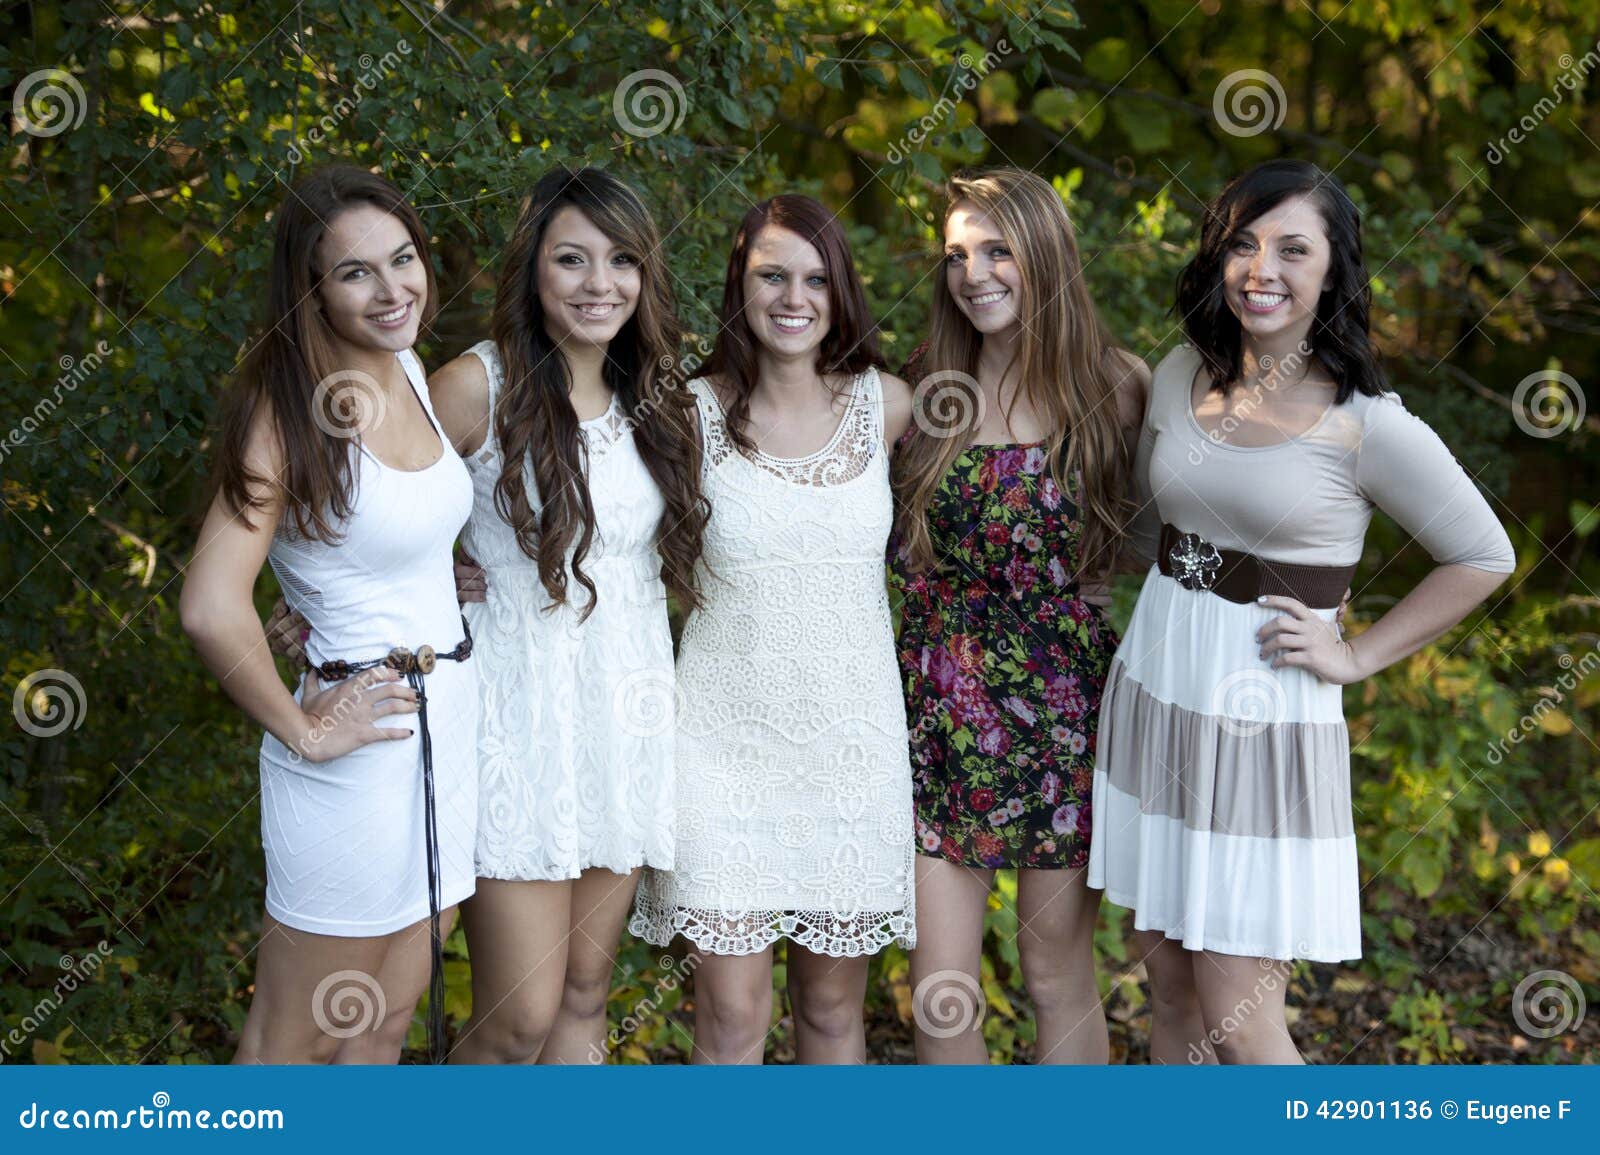
M 1128 510 L 1123 480 L 1130 464 L 1115 398 L 1120 347 L 1090 298 L 1067 206 L 1048 181 L 1016 168 L 957 173 L 946 197 L 946 221 L 957 206 L 971 205 L 995 222 L 1016 259 L 1022 282 L 1018 397 L 1026 397 L 1043 418 L 1050 430 L 1045 438 L 1050 475 L 1082 510 L 1083 531 L 1072 568 L 1078 578 L 1106 571 L 1125 533 Z M 917 374 L 960 373 L 976 379 L 981 347 L 982 334 L 955 304 L 949 282 L 939 277 L 931 333 Z M 915 403 L 922 405 L 922 398 Z M 934 563 L 928 506 L 966 448 L 966 430 L 957 434 L 941 437 L 915 421 L 896 454 L 896 533 L 915 571 Z

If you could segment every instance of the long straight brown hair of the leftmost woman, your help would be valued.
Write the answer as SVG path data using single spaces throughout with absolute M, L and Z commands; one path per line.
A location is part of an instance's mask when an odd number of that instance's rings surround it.
M 389 213 L 411 235 L 418 261 L 427 270 L 421 322 L 424 328 L 432 322 L 438 293 L 427 232 L 405 194 L 352 165 L 307 173 L 278 206 L 267 272 L 267 330 L 240 365 L 224 403 L 218 446 L 216 488 L 229 512 L 250 525 L 250 512 L 266 504 L 259 488 L 277 488 L 296 533 L 330 544 L 339 539 L 339 526 L 350 515 L 355 475 L 350 435 L 328 432 L 349 426 L 338 411 L 338 390 L 318 395 L 318 382 L 342 366 L 317 296 L 325 274 L 317 267 L 317 245 L 339 213 L 360 205 Z M 262 411 L 272 414 L 283 451 L 278 477 L 261 477 L 245 464 L 250 432 Z

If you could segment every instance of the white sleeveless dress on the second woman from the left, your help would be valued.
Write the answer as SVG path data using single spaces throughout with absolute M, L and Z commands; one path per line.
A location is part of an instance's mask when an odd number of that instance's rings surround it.
M 504 382 L 499 350 L 474 346 L 490 411 Z M 488 600 L 467 603 L 478 667 L 478 841 L 482 878 L 576 878 L 672 865 L 672 632 L 656 554 L 664 502 L 621 406 L 581 424 L 595 541 L 584 571 L 550 606 L 533 560 L 494 509 L 501 453 L 493 422 L 472 474 L 462 533 Z M 530 499 L 531 493 L 530 474 Z M 538 504 L 534 501 L 534 509 Z

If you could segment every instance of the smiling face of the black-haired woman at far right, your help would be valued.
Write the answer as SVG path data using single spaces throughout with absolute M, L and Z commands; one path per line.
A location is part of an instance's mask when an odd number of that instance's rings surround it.
M 1309 197 L 1290 197 L 1229 242 L 1222 296 L 1245 336 L 1301 341 L 1330 285 L 1333 250 L 1322 213 Z

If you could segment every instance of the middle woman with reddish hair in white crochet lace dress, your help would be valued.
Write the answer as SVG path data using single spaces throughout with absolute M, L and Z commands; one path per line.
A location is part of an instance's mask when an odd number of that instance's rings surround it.
M 808 197 L 750 210 L 690 384 L 712 514 L 678 651 L 677 862 L 645 873 L 630 923 L 704 957 L 696 1062 L 762 1061 L 781 937 L 798 1059 L 862 1062 L 869 958 L 915 944 L 883 581 L 910 390 L 877 360 L 834 216 Z

